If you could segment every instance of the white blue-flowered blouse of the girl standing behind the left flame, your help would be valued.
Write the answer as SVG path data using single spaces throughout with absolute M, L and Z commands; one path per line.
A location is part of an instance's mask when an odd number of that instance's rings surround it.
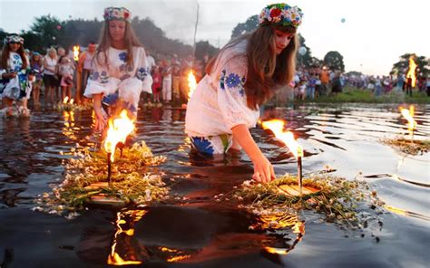
M 103 93 L 103 103 L 112 105 L 121 98 L 130 104 L 130 110 L 137 111 L 142 91 L 151 93 L 152 78 L 146 62 L 145 50 L 133 47 L 133 66 L 127 65 L 127 51 L 110 47 L 95 56 L 93 72 L 88 79 L 84 96 Z

